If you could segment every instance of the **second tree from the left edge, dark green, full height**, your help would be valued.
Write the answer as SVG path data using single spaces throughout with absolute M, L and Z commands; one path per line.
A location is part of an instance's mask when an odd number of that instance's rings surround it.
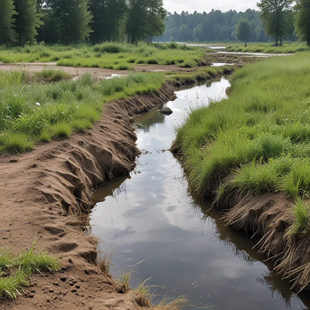
M 37 28 L 43 23 L 41 13 L 36 11 L 37 0 L 15 0 L 15 29 L 19 36 L 19 45 L 35 42 Z

